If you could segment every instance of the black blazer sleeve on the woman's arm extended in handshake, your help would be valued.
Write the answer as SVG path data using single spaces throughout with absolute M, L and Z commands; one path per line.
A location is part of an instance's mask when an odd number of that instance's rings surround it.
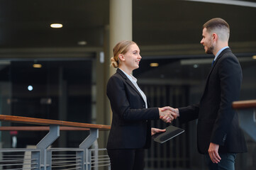
M 123 120 L 154 120 L 159 119 L 158 108 L 131 108 L 128 101 L 125 82 L 119 77 L 108 80 L 107 96 L 111 102 L 113 113 Z M 138 96 L 139 97 L 139 96 Z

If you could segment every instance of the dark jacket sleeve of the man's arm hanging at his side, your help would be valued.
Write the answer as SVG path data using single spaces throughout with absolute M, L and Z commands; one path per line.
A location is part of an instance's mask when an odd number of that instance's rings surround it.
M 218 75 L 221 83 L 221 103 L 213 126 L 211 142 L 224 145 L 235 115 L 232 102 L 238 100 L 242 82 L 242 70 L 235 56 L 220 61 Z

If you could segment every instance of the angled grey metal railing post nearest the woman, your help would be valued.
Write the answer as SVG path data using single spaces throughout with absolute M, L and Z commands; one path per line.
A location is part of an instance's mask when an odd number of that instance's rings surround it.
M 95 140 L 97 140 L 99 137 L 99 129 L 90 129 L 90 135 L 79 145 L 80 149 L 84 150 L 84 159 L 82 160 L 82 170 L 90 170 L 91 166 L 89 165 L 88 159 L 88 148 L 91 147 L 91 145 L 94 143 Z

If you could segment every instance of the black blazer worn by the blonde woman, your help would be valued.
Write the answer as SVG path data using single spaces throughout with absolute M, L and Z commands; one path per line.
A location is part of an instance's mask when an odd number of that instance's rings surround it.
M 150 147 L 150 120 L 159 119 L 158 108 L 145 108 L 140 92 L 121 69 L 108 80 L 106 94 L 113 112 L 106 148 Z

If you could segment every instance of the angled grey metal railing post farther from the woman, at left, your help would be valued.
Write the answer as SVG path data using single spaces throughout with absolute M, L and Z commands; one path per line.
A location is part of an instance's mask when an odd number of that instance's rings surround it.
M 38 145 L 36 145 L 37 149 L 40 149 L 40 166 L 41 170 L 50 170 L 51 168 L 51 152 L 47 152 L 47 148 L 52 145 L 55 140 L 60 136 L 60 125 L 50 125 L 50 131 L 45 137 L 43 137 Z

